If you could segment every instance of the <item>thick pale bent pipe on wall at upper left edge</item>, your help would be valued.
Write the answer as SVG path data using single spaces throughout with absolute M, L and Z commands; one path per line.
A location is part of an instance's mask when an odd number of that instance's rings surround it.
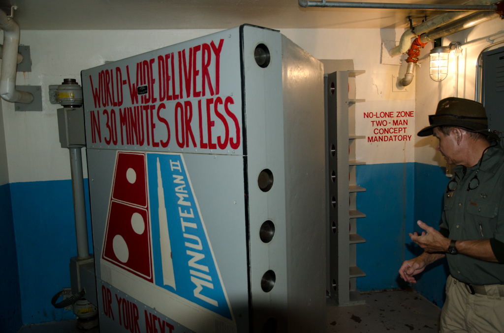
M 19 26 L 0 10 L 0 28 L 4 30 L 2 71 L 0 72 L 0 97 L 8 102 L 31 103 L 33 95 L 16 90 L 16 65 L 18 62 Z

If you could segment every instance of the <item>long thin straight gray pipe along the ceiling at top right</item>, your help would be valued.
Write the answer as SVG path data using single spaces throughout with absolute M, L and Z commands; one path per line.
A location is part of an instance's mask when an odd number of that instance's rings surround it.
M 497 5 L 436 5 L 436 4 L 392 4 L 392 3 L 352 3 L 340 1 L 298 0 L 301 7 L 327 8 L 368 8 L 368 9 L 410 9 L 422 11 L 496 11 Z

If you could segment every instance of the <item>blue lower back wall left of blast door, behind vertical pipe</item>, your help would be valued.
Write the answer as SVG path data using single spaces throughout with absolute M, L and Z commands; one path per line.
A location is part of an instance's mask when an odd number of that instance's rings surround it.
M 92 252 L 87 180 L 84 186 Z M 77 256 L 72 181 L 12 183 L 10 188 L 23 324 L 75 318 L 50 303 L 61 288 L 70 287 L 70 258 Z

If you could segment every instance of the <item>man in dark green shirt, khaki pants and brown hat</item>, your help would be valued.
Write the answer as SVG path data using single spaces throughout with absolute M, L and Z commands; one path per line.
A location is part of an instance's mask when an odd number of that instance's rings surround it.
M 406 282 L 436 260 L 447 257 L 450 276 L 440 331 L 504 332 L 504 151 L 488 130 L 484 107 L 450 97 L 441 100 L 430 126 L 448 164 L 457 165 L 445 191 L 439 231 L 418 221 L 422 234 L 409 234 L 424 249 L 405 261 Z

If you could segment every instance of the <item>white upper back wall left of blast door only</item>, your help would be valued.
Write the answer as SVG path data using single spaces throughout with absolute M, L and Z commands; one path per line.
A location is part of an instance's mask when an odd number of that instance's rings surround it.
M 70 157 L 61 148 L 56 110 L 48 86 L 64 78 L 80 83 L 80 72 L 105 61 L 126 58 L 217 30 L 177 31 L 21 31 L 21 44 L 30 45 L 32 71 L 18 73 L 17 85 L 42 86 L 42 112 L 15 112 L 2 101 L 11 183 L 68 180 Z M 83 164 L 85 151 L 83 149 Z M 87 167 L 85 177 L 87 177 Z

